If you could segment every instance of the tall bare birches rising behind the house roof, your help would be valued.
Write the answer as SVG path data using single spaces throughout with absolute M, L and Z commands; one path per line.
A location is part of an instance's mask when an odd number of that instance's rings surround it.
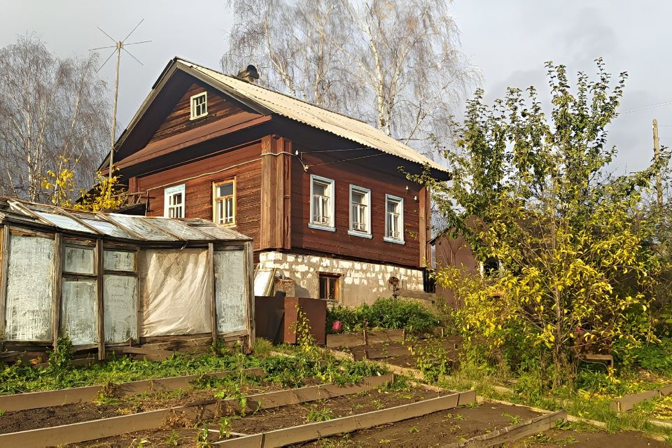
M 430 152 L 479 80 L 445 0 L 230 0 L 225 71 L 367 121 Z

